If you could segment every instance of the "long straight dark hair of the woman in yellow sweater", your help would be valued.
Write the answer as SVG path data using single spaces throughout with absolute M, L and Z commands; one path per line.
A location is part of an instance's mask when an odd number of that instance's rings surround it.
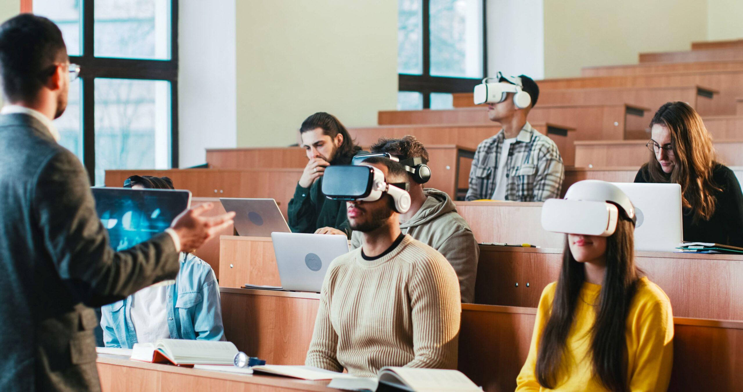
M 642 271 L 635 266 L 635 225 L 621 216 L 617 229 L 606 239 L 606 276 L 598 298 L 596 321 L 591 328 L 593 373 L 610 391 L 627 391 L 627 312 Z M 554 388 L 575 317 L 585 269 L 570 251 L 565 236 L 562 270 L 557 280 L 550 319 L 542 331 L 536 358 L 536 376 L 545 388 Z

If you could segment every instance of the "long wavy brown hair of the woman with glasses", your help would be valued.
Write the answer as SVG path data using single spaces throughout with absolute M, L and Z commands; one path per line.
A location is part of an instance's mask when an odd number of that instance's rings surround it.
M 645 181 L 681 185 L 681 202 L 685 208 L 692 209 L 693 222 L 710 220 L 717 207 L 714 194 L 722 191 L 712 175 L 718 163 L 710 132 L 698 113 L 684 102 L 669 102 L 661 106 L 650 121 L 651 127 L 655 124 L 666 126 L 671 132 L 676 164 L 673 171 L 666 174 L 655 154 L 650 152 L 650 159 L 644 164 L 650 178 Z

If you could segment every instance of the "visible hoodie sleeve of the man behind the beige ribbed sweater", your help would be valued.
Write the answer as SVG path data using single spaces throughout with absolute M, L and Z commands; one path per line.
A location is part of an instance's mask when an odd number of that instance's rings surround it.
M 441 242 L 438 251 L 449 260 L 459 278 L 459 290 L 464 303 L 475 300 L 475 280 L 480 247 L 472 231 L 461 228 Z

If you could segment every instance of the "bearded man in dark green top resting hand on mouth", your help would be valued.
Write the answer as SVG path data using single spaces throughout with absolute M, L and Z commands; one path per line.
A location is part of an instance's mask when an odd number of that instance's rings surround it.
M 293 233 L 342 234 L 351 236 L 345 202 L 329 200 L 322 194 L 322 174 L 331 164 L 351 164 L 362 153 L 335 116 L 318 112 L 299 128 L 302 147 L 309 159 L 289 202 L 289 228 Z

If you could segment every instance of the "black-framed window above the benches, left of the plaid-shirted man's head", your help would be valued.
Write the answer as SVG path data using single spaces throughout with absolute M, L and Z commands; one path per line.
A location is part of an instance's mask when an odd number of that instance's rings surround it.
M 448 109 L 487 69 L 484 0 L 398 0 L 398 109 Z

